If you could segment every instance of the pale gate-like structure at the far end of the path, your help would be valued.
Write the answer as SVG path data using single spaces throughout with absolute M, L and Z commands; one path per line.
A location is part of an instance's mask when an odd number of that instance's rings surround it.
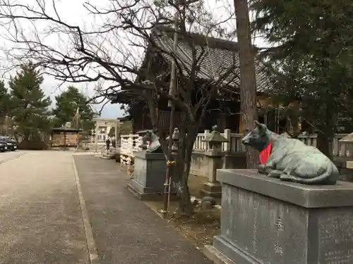
M 117 130 L 120 124 L 116 118 L 93 118 L 95 121 L 95 130 L 92 131 L 92 142 L 105 142 L 109 137 L 109 131 L 114 128 L 114 136 L 116 137 Z

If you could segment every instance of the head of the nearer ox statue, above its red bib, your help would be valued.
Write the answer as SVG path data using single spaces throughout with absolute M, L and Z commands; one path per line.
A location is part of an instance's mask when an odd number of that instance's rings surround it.
M 260 122 L 255 122 L 255 129 L 246 134 L 241 143 L 246 146 L 252 146 L 254 149 L 262 151 L 270 142 L 270 133 L 268 128 Z

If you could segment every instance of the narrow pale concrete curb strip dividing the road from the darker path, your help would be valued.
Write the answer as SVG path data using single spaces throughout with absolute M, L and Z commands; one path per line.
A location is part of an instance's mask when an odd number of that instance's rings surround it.
M 78 178 L 78 172 L 75 164 L 75 160 L 72 156 L 73 172 L 75 175 L 75 181 L 78 191 L 78 198 L 80 199 L 80 208 L 83 218 L 83 225 L 85 227 L 85 236 L 88 246 L 88 254 L 90 256 L 90 264 L 100 264 L 100 259 L 98 258 L 97 246 L 95 244 L 95 239 L 93 237 L 92 226 L 90 225 L 90 218 L 88 218 L 88 211 L 86 208 L 85 199 L 83 197 L 82 188 L 80 184 L 80 179 Z

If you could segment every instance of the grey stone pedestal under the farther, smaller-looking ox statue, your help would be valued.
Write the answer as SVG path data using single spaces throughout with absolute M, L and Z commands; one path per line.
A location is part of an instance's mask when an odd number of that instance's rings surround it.
M 167 169 L 164 153 L 141 151 L 134 152 L 134 156 L 134 171 L 128 190 L 140 200 L 162 199 Z

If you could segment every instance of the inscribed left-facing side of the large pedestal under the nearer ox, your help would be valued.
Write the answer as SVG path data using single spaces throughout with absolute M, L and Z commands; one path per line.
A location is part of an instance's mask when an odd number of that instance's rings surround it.
M 222 237 L 249 258 L 256 259 L 253 263 L 308 264 L 306 211 L 231 188 L 227 184 L 222 186 Z

